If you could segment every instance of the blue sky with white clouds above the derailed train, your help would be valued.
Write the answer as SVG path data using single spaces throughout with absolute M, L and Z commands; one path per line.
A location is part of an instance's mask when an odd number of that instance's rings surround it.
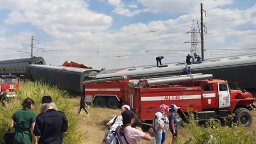
M 200 3 L 205 59 L 256 53 L 256 0 L 0 0 L 0 60 L 31 57 L 33 36 L 33 56 L 51 65 L 183 62 Z

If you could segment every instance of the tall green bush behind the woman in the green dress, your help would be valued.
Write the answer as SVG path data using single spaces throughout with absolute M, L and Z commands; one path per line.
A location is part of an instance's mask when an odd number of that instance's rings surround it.
M 3 134 L 8 129 L 8 124 L 15 111 L 22 109 L 22 101 L 30 97 L 35 101 L 33 111 L 38 114 L 40 103 L 44 95 L 50 95 L 56 103 L 58 110 L 63 111 L 68 119 L 68 133 L 63 138 L 64 144 L 78 144 L 81 143 L 81 132 L 77 131 L 77 116 L 73 112 L 73 107 L 69 101 L 69 95 L 56 86 L 49 86 L 42 82 L 20 82 L 20 89 L 17 90 L 17 97 L 11 99 L 9 107 L 4 108 L 0 106 L 0 141 L 2 141 Z

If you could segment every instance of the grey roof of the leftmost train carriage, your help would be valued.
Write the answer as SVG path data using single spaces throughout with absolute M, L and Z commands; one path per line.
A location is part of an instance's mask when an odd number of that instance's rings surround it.
M 0 61 L 0 64 L 11 64 L 11 63 L 19 63 L 19 62 L 27 62 L 29 64 L 37 64 L 40 62 L 40 64 L 45 64 L 43 57 L 3 60 L 3 61 Z

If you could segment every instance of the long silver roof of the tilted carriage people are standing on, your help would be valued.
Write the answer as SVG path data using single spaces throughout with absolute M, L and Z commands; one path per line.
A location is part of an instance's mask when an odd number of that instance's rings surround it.
M 157 67 L 156 65 L 130 67 L 101 71 L 96 78 L 108 78 L 118 76 L 144 77 L 154 75 L 166 75 L 181 73 L 186 66 L 186 62 L 167 63 L 167 67 Z M 200 64 L 191 64 L 191 70 L 210 70 L 218 68 L 230 68 L 239 66 L 256 65 L 256 54 L 230 56 L 222 58 L 207 59 Z

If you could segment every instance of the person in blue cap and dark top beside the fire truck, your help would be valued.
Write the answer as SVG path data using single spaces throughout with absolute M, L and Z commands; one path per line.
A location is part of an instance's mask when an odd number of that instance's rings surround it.
M 169 128 L 172 133 L 172 143 L 175 143 L 178 137 L 178 118 L 176 116 L 178 108 L 175 104 L 170 105 L 170 108 L 170 113 L 168 115 Z

